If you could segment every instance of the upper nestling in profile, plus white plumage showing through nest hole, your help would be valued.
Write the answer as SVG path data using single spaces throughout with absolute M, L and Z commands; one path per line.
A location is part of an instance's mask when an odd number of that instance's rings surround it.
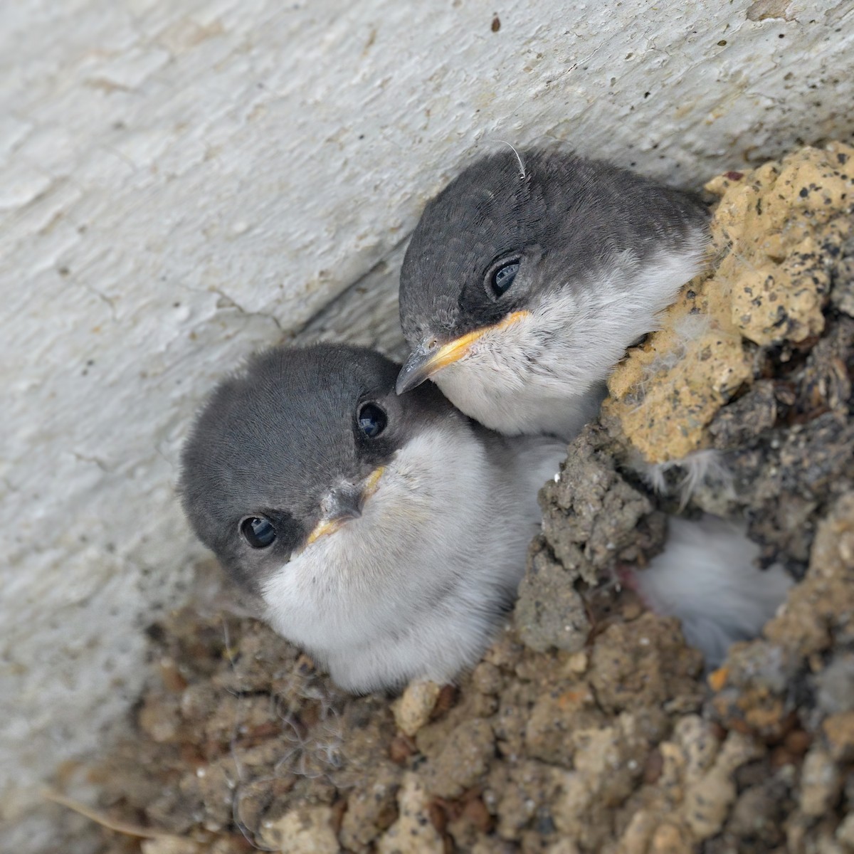
M 708 213 L 694 196 L 558 150 L 488 155 L 436 197 L 401 270 L 412 354 L 399 394 L 432 378 L 507 436 L 572 439 L 605 377 L 699 272 Z M 705 458 L 700 458 L 705 461 Z M 716 664 L 785 597 L 744 526 L 671 519 L 664 553 L 632 586 Z

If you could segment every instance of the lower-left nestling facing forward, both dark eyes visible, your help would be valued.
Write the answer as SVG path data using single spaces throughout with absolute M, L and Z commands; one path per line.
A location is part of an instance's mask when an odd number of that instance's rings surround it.
M 345 689 L 452 679 L 515 598 L 564 457 L 342 345 L 275 348 L 225 379 L 184 446 L 196 534 L 261 616 Z

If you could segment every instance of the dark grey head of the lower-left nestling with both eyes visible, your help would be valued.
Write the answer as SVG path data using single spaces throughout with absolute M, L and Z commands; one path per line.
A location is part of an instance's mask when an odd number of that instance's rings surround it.
M 363 348 L 275 348 L 214 390 L 184 445 L 179 491 L 196 535 L 244 588 L 258 594 L 323 518 L 358 516 L 371 473 L 453 412 L 430 384 L 398 398 L 398 368 Z

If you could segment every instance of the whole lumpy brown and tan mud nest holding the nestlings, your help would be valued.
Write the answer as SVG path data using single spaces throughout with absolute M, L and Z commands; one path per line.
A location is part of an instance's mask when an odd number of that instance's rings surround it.
M 102 819 L 159 831 L 146 854 L 854 852 L 852 158 L 709 184 L 711 272 L 543 488 L 511 624 L 471 674 L 351 698 L 260 623 L 178 613 L 152 629 L 134 738 L 92 769 Z M 615 581 L 677 509 L 641 461 L 704 449 L 731 480 L 686 512 L 745 516 L 798 579 L 711 675 Z

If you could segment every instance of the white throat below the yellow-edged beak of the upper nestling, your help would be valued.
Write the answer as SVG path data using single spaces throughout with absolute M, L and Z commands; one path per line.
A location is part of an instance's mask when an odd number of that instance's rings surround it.
M 553 433 L 572 439 L 593 418 L 605 379 L 640 336 L 676 300 L 703 263 L 697 231 L 679 249 L 643 264 L 630 252 L 581 287 L 544 295 L 530 313 L 490 331 L 459 362 L 436 374 L 462 412 L 506 436 Z

